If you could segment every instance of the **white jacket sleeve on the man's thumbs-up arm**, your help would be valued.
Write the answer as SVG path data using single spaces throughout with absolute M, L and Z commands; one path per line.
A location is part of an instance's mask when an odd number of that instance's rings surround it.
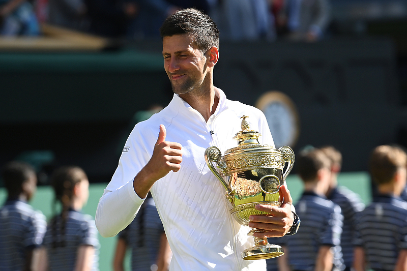
M 154 142 L 150 141 L 156 136 L 141 127 L 137 124 L 131 132 L 119 166 L 99 200 L 95 222 L 103 237 L 115 236 L 126 228 L 144 201 L 134 191 L 133 179 L 150 160 L 154 147 Z

